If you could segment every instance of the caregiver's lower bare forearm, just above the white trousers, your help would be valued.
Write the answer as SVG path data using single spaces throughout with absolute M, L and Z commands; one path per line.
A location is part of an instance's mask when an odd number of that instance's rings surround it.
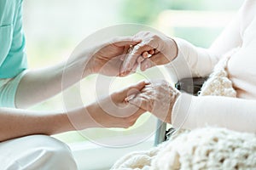
M 0 109 L 0 141 L 32 134 L 55 134 L 73 130 L 67 114 Z

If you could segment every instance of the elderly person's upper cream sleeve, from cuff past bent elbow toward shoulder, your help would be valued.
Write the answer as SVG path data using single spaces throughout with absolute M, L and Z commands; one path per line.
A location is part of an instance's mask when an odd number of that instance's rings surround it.
M 244 6 L 244 5 L 243 5 Z M 231 49 L 241 46 L 241 14 L 244 7 L 224 28 L 224 31 L 216 38 L 210 48 L 195 47 L 195 45 L 181 38 L 173 38 L 177 43 L 177 57 L 166 69 L 172 73 L 172 80 L 185 77 L 206 77 L 218 60 Z M 199 37 L 200 38 L 200 37 Z M 174 73 L 174 74 L 173 74 Z

